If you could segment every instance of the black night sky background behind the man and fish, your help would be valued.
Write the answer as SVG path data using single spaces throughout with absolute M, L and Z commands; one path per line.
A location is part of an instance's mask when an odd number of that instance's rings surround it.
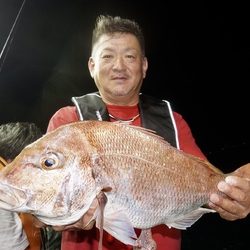
M 167 99 L 198 145 L 224 172 L 249 160 L 249 13 L 242 3 L 0 0 L 0 123 L 32 121 L 45 132 L 71 96 L 96 91 L 89 76 L 99 14 L 135 19 L 146 38 L 143 92 Z M 10 42 L 12 41 L 12 42 Z M 204 215 L 183 233 L 183 250 L 250 248 L 249 217 Z

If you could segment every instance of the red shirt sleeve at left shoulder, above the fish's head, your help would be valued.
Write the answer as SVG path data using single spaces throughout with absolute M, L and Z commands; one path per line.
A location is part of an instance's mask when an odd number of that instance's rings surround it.
M 76 111 L 76 107 L 67 106 L 59 109 L 56 113 L 50 118 L 47 132 L 50 132 L 61 125 L 68 124 L 71 122 L 78 121 L 78 115 Z

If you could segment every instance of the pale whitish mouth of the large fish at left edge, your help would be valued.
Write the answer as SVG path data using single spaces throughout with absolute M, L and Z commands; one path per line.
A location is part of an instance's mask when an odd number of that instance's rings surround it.
M 0 208 L 18 212 L 27 200 L 27 192 L 0 182 Z

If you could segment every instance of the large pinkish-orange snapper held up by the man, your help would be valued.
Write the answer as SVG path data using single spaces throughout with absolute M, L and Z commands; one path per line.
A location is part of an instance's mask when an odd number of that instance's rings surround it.
M 1 171 L 0 208 L 32 213 L 48 225 L 69 225 L 102 192 L 104 230 L 135 245 L 133 228 L 185 229 L 211 212 L 202 206 L 224 178 L 209 162 L 152 131 L 82 121 L 47 133 Z

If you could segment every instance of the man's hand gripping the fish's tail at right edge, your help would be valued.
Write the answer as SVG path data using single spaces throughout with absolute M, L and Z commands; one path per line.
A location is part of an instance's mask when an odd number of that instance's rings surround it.
M 218 189 L 225 195 L 211 194 L 209 206 L 226 220 L 245 218 L 250 213 L 250 163 L 219 182 Z

